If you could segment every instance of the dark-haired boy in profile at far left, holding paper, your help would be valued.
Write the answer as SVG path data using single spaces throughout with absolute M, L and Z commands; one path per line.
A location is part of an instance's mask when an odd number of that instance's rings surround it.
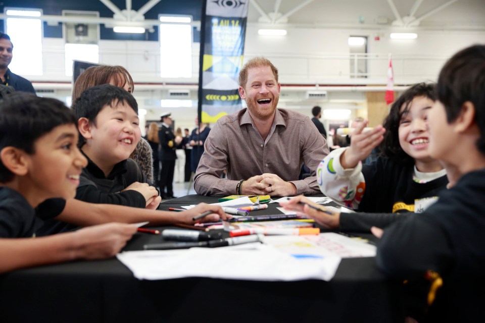
M 109 224 L 31 239 L 41 224 L 34 208 L 76 193 L 86 165 L 77 137 L 76 117 L 61 101 L 18 92 L 0 102 L 0 273 L 113 256 L 136 232 L 133 225 Z

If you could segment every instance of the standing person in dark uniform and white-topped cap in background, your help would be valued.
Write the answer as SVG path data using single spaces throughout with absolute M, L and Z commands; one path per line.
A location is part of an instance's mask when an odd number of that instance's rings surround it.
M 173 196 L 173 173 L 175 171 L 175 134 L 170 126 L 172 125 L 172 114 L 166 112 L 160 115 L 162 129 L 158 132 L 160 140 L 160 160 L 162 161 L 162 171 L 160 173 L 160 195 L 162 199 L 175 198 Z M 167 190 L 165 191 L 165 188 Z

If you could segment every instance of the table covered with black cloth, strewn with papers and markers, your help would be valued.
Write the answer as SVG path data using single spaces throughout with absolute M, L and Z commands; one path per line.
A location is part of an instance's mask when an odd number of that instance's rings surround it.
M 215 201 L 189 195 L 163 208 Z M 252 214 L 275 213 L 276 206 Z M 160 239 L 137 233 L 125 250 Z M 395 322 L 403 321 L 400 304 L 398 285 L 384 278 L 374 258 L 342 259 L 330 282 L 139 281 L 115 258 L 0 276 L 2 322 Z

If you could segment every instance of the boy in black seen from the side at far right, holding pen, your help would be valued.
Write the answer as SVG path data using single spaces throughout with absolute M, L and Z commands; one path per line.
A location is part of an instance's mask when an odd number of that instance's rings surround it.
M 441 70 L 436 93 L 426 121 L 428 154 L 443 164 L 452 187 L 423 213 L 401 214 L 401 221 L 398 214 L 387 224 L 383 214 L 350 215 L 385 228 L 371 228 L 382 237 L 377 265 L 404 280 L 405 289 L 411 286 L 408 314 L 420 322 L 474 322 L 485 302 L 485 45 L 456 53 Z M 304 196 L 281 204 L 324 227 L 340 222 L 342 229 L 344 213 L 328 215 L 299 202 L 313 204 Z M 423 286 L 430 288 L 417 292 Z M 427 308 L 421 311 L 419 304 Z

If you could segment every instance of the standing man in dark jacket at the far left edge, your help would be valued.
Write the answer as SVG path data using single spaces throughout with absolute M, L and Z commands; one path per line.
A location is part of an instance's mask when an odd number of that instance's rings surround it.
M 24 79 L 17 74 L 12 73 L 9 69 L 9 64 L 12 62 L 12 51 L 14 45 L 10 40 L 10 36 L 0 32 L 0 79 L 4 85 L 12 86 L 16 91 L 31 92 L 35 94 L 34 87 L 29 80 Z

